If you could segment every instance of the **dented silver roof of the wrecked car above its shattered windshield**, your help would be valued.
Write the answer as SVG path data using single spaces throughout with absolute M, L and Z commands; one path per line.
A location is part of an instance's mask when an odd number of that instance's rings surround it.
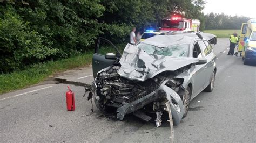
M 196 34 L 194 34 L 196 35 Z M 142 43 L 154 45 L 157 47 L 166 47 L 175 44 L 191 44 L 196 40 L 200 40 L 200 38 L 196 36 L 188 36 L 188 35 L 179 35 L 179 34 L 169 34 L 169 35 L 158 35 L 151 38 L 148 38 Z

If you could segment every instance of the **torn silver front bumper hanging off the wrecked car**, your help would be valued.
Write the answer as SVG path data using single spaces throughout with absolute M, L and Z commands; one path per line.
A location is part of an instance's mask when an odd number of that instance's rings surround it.
M 169 101 L 171 106 L 171 112 L 172 118 L 173 118 L 173 124 L 178 125 L 183 117 L 184 114 L 184 108 L 183 108 L 183 101 L 180 98 L 180 96 L 173 91 L 170 87 L 165 85 L 166 81 L 161 83 L 157 90 L 151 92 L 148 95 L 143 96 L 142 98 L 139 98 L 133 102 L 130 103 L 122 103 L 123 106 L 117 108 L 117 119 L 123 120 L 124 116 L 128 113 L 131 113 L 133 111 L 137 111 L 141 108 L 143 108 L 145 105 L 157 101 L 160 96 L 165 95 L 167 101 Z M 100 109 L 99 105 L 99 96 L 96 92 L 97 84 L 93 82 L 93 101 L 95 102 L 98 109 Z

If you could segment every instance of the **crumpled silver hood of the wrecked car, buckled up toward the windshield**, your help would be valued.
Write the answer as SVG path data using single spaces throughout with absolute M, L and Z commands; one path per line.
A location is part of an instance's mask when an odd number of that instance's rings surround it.
M 130 80 L 145 81 L 163 71 L 174 71 L 198 62 L 197 58 L 151 55 L 142 49 L 127 44 L 120 59 L 121 67 L 117 73 Z

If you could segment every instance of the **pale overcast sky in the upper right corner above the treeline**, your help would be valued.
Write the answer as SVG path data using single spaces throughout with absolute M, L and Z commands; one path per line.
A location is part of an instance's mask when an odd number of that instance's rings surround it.
M 205 0 L 205 14 L 210 12 L 225 13 L 231 16 L 246 16 L 256 18 L 255 0 Z

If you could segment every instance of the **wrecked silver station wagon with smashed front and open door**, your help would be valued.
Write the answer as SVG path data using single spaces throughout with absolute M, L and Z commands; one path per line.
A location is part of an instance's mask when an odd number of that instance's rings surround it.
M 109 40 L 99 38 L 92 59 L 97 108 L 111 109 L 119 120 L 129 113 L 153 119 L 157 127 L 167 111 L 178 125 L 191 99 L 214 87 L 217 58 L 209 42 L 213 37 L 206 38 L 199 33 L 158 35 L 135 46 L 127 44 L 123 54 Z M 104 43 L 111 45 L 112 53 Z

